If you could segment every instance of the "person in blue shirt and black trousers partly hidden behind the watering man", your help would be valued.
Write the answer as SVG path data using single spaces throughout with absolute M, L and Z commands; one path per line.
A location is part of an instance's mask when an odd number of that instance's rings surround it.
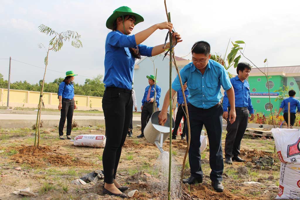
M 189 101 L 187 99 L 187 96 L 189 95 L 189 92 L 187 90 L 186 82 L 183 84 L 183 89 L 184 89 L 184 95 L 185 95 L 187 105 L 188 105 Z M 183 122 L 183 127 L 182 127 L 181 139 L 184 139 L 185 125 L 187 122 L 187 117 L 185 114 L 185 105 L 184 105 L 184 99 L 183 99 L 183 94 L 182 94 L 181 88 L 179 89 L 179 91 L 177 91 L 177 106 L 178 106 L 178 108 L 177 108 L 177 113 L 176 113 L 175 126 L 174 126 L 173 133 L 172 133 L 172 139 L 176 139 L 177 130 L 178 130 L 179 124 L 182 120 L 182 117 L 184 118 L 184 122 Z

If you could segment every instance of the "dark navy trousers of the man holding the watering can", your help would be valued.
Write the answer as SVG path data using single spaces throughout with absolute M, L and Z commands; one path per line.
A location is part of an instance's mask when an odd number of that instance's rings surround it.
M 209 165 L 211 168 L 210 179 L 211 181 L 222 181 L 224 169 L 221 144 L 223 114 L 222 106 L 217 105 L 209 109 L 201 109 L 196 108 L 189 103 L 187 108 L 190 117 L 191 138 L 188 155 L 191 176 L 195 178 L 203 177 L 203 172 L 201 169 L 200 134 L 204 124 L 209 141 Z

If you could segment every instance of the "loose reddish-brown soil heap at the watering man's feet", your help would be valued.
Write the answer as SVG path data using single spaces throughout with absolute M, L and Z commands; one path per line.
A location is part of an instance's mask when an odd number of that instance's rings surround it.
M 198 197 L 203 200 L 248 200 L 248 197 L 245 196 L 235 196 L 233 194 L 230 194 L 229 191 L 224 190 L 222 193 L 215 192 L 210 189 L 211 185 L 190 185 L 190 196 L 192 197 Z M 186 188 L 185 190 L 188 193 L 188 190 Z M 250 199 L 249 199 L 250 200 Z

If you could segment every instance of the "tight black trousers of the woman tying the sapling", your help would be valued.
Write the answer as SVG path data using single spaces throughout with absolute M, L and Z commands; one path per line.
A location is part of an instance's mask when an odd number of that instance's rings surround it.
M 133 100 L 131 90 L 109 87 L 104 91 L 102 109 L 105 118 L 106 144 L 102 163 L 104 182 L 113 183 L 132 117 Z

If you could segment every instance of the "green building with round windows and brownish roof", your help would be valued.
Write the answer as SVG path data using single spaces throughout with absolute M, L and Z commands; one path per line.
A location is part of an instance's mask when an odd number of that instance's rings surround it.
M 269 103 L 267 79 L 265 75 L 259 71 L 259 69 L 265 73 L 268 72 L 271 105 Z M 300 66 L 265 67 L 259 69 L 253 67 L 248 77 L 250 84 L 250 97 L 255 112 L 268 114 L 270 113 L 270 108 L 273 108 L 273 111 L 274 109 L 278 110 L 281 101 L 275 101 L 279 92 L 274 91 L 282 88 L 284 85 L 289 87 L 289 89 L 295 90 L 295 98 L 299 99 Z

